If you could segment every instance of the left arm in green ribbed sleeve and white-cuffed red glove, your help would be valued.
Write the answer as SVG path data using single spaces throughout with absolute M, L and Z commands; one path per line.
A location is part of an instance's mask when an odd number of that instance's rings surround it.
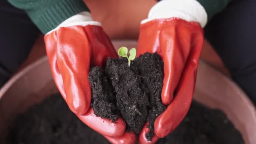
M 23 9 L 45 34 L 45 48 L 55 84 L 69 108 L 113 144 L 135 143 L 125 122 L 97 117 L 91 108 L 91 66 L 102 67 L 117 53 L 101 24 L 93 21 L 83 0 L 9 0 Z M 99 53 L 100 51 L 100 53 Z

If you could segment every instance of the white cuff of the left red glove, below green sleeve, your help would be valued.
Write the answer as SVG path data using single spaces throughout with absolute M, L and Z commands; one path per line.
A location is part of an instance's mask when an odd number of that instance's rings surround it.
M 89 13 L 88 11 L 83 11 L 74 16 L 71 16 L 69 19 L 66 19 L 61 24 L 59 24 L 59 26 L 57 26 L 55 29 L 48 32 L 46 35 L 52 33 L 53 31 L 58 30 L 61 27 L 72 27 L 72 26 L 85 27 L 87 25 L 101 26 L 101 23 L 98 21 L 93 21 L 91 17 L 91 13 Z

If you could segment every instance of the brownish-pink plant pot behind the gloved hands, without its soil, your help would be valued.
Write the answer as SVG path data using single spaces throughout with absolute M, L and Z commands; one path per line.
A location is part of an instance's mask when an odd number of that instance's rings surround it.
M 136 45 L 135 41 L 115 41 L 115 48 Z M 47 57 L 14 75 L 0 90 L 0 143 L 5 144 L 9 125 L 17 114 L 47 96 L 57 93 Z M 245 144 L 256 144 L 256 110 L 245 93 L 229 78 L 200 61 L 194 99 L 221 109 L 240 131 Z

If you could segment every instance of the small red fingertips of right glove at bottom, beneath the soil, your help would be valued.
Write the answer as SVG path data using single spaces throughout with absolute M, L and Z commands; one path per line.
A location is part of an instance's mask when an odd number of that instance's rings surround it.
M 139 143 L 140 144 L 155 144 L 159 140 L 159 138 L 155 135 L 155 133 L 154 133 L 154 136 L 152 137 L 151 141 L 147 140 L 146 134 L 149 132 L 149 128 L 147 128 L 148 124 L 149 124 L 149 122 L 147 122 L 143 126 L 141 132 L 139 133 Z

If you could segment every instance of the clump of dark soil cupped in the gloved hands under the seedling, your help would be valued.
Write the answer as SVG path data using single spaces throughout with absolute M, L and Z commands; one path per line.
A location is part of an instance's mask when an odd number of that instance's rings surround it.
M 151 140 L 155 119 L 166 108 L 161 101 L 163 61 L 157 53 L 140 55 L 130 67 L 126 58 L 109 58 L 104 70 L 90 70 L 88 80 L 95 115 L 113 122 L 120 116 L 127 131 L 137 134 L 149 121 L 147 139 Z

